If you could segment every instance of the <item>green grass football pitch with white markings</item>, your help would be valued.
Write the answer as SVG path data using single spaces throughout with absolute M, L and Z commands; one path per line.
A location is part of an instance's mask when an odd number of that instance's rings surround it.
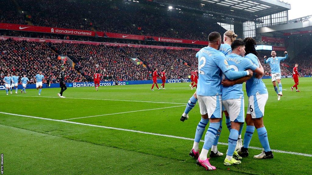
M 264 124 L 274 158 L 253 158 L 262 147 L 255 130 L 249 156 L 241 164 L 224 166 L 225 155 L 211 158 L 217 170 L 209 172 L 188 155 L 201 118 L 198 103 L 189 119 L 180 121 L 195 92 L 189 83 L 167 83 L 159 91 L 150 91 L 151 84 L 99 87 L 97 92 L 94 87 L 68 88 L 66 98 L 57 97 L 59 88 L 43 88 L 41 96 L 36 89 L 27 89 L 27 94 L 13 90 L 8 96 L 2 90 L 3 173 L 311 174 L 312 78 L 300 78 L 301 92 L 291 92 L 291 78 L 282 79 L 280 101 L 271 79 L 264 82 L 269 91 Z M 245 92 L 245 113 L 247 104 Z M 223 127 L 218 150 L 224 154 L 228 136 Z

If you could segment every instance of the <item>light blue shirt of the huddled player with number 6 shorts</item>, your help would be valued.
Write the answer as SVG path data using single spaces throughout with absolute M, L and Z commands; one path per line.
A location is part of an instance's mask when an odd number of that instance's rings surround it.
M 256 64 L 257 67 L 260 67 L 256 55 L 247 54 L 245 58 L 250 59 L 251 62 Z M 256 95 L 256 93 L 267 94 L 268 90 L 266 89 L 266 85 L 263 83 L 262 79 L 256 78 L 256 73 L 254 73 L 253 76 L 246 82 L 246 92 L 247 96 L 250 97 Z

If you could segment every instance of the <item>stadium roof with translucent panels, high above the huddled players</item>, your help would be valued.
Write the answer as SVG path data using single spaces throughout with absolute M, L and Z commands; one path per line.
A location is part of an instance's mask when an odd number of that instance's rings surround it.
M 150 4 L 169 7 L 173 10 L 211 14 L 215 18 L 233 21 L 255 21 L 257 18 L 290 10 L 290 4 L 278 0 L 147 0 Z

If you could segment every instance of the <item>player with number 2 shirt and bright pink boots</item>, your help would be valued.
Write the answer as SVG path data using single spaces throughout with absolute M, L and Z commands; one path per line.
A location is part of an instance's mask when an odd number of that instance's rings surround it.
M 197 52 L 198 57 L 198 88 L 197 98 L 202 119 L 197 125 L 193 148 L 190 155 L 198 157 L 197 164 L 203 166 L 206 170 L 215 170 L 211 166 L 207 154 L 212 146 L 220 128 L 222 97 L 221 97 L 221 77 L 220 73 L 228 78 L 240 78 L 247 75 L 252 76 L 252 71 L 232 71 L 229 67 L 225 55 L 219 51 L 221 46 L 221 35 L 218 32 L 212 32 L 208 35 L 209 45 Z M 203 135 L 204 128 L 210 120 L 202 152 L 199 154 L 198 144 Z M 195 150 L 194 148 L 197 148 Z M 199 155 L 199 156 L 198 156 Z

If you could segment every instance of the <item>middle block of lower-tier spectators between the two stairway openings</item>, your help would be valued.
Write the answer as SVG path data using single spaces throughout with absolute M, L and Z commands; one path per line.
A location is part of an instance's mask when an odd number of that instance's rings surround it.
M 124 47 L 54 43 L 52 48 L 68 55 L 76 63 L 76 71 L 87 81 L 93 81 L 95 72 L 102 74 L 106 81 L 149 79 L 148 69 L 131 62 Z

